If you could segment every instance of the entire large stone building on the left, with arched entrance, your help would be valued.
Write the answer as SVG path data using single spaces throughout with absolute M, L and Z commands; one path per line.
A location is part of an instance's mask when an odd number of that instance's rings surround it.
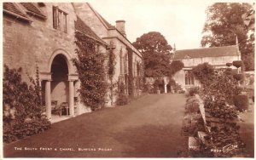
M 88 3 L 82 4 L 84 9 L 91 8 Z M 110 25 L 106 20 L 103 23 L 99 14 L 91 14 L 96 13 L 94 9 L 91 13 L 81 10 L 76 3 L 3 3 L 3 63 L 10 68 L 22 67 L 26 82 L 27 75 L 36 77 L 38 68 L 49 118 L 53 104 L 66 104 L 71 117 L 90 111 L 79 103 L 79 76 L 73 65 L 75 31 L 96 40 L 102 54 L 108 54 L 109 46 L 115 47 L 113 50 L 119 55 L 115 79 L 125 75 L 127 67 L 131 67 L 131 74 L 138 74 L 141 54 L 117 29 L 119 26 L 108 28 Z M 133 66 L 125 63 L 127 50 L 134 55 Z

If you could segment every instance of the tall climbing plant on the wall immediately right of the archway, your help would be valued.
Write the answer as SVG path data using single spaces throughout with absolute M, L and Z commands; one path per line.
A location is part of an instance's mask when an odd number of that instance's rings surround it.
M 80 32 L 75 33 L 77 59 L 73 59 L 77 67 L 81 86 L 81 100 L 92 111 L 105 105 L 107 83 L 105 82 L 104 55 L 96 49 L 96 41 Z

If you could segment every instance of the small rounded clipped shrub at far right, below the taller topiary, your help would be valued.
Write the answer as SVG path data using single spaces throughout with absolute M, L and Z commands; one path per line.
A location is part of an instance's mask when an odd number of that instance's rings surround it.
M 233 100 L 238 111 L 245 111 L 248 109 L 249 100 L 246 94 L 235 95 Z

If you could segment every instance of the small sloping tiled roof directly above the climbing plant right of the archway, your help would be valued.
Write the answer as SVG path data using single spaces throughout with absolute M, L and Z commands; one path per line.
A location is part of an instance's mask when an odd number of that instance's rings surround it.
M 106 44 L 104 41 L 102 41 L 102 39 L 100 37 L 98 37 L 96 35 L 96 33 L 94 31 L 92 31 L 90 29 L 89 26 L 87 26 L 83 20 L 81 20 L 79 18 L 79 16 L 77 16 L 77 21 L 75 21 L 75 29 L 78 31 L 83 32 L 86 36 L 92 37 L 94 39 L 96 39 L 97 41 Z

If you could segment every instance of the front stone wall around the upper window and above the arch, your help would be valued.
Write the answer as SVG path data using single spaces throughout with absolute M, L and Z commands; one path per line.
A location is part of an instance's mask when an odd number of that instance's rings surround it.
M 53 28 L 52 7 L 67 12 L 67 33 Z M 47 20 L 30 17 L 32 23 L 24 23 L 7 15 L 3 16 L 3 63 L 11 68 L 23 68 L 22 77 L 27 80 L 26 72 L 35 77 L 36 66 L 40 72 L 49 72 L 52 54 L 61 49 L 74 56 L 74 20 L 76 15 L 70 3 L 46 3 L 40 8 Z M 71 61 L 70 61 L 71 62 Z M 74 72 L 74 71 L 73 71 Z

